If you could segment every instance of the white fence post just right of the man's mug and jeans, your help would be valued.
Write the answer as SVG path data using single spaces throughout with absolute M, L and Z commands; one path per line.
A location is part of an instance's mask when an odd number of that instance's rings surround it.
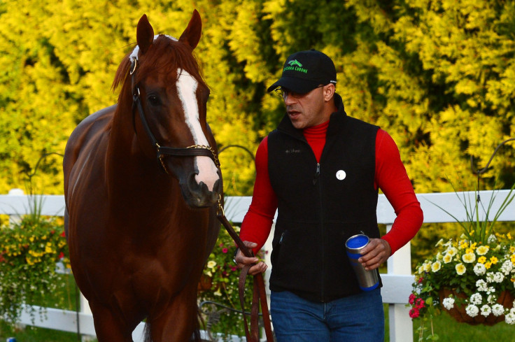
M 392 225 L 386 226 L 390 231 Z M 407 243 L 397 250 L 387 262 L 388 274 L 411 275 L 411 245 Z M 390 320 L 390 342 L 413 342 L 413 322 L 409 317 L 409 308 L 404 304 L 389 304 L 388 318 Z

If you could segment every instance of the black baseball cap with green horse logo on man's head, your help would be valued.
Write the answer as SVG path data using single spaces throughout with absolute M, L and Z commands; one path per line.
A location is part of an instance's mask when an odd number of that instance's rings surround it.
M 267 91 L 285 87 L 292 92 L 306 94 L 318 85 L 329 83 L 336 85 L 336 68 L 332 60 L 317 50 L 299 51 L 288 56 L 283 75 Z

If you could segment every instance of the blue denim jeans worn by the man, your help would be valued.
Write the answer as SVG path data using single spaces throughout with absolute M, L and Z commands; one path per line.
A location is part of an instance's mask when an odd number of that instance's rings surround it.
M 291 292 L 271 292 L 277 342 L 382 342 L 381 289 L 329 303 L 306 301 Z

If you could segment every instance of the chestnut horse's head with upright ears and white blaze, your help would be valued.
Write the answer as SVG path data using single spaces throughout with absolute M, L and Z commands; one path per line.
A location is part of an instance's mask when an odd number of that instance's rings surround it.
M 209 87 L 192 55 L 202 31 L 194 11 L 181 38 L 154 36 L 143 15 L 138 45 L 120 65 L 113 86 L 124 83 L 120 102 L 132 101 L 139 148 L 156 167 L 178 179 L 192 207 L 211 206 L 222 192 L 216 142 L 206 123 Z

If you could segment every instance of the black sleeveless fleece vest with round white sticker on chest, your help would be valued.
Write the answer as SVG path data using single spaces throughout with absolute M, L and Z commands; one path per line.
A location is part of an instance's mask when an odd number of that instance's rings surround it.
M 374 189 L 379 127 L 344 111 L 330 117 L 320 163 L 302 130 L 285 116 L 268 136 L 268 169 L 278 198 L 270 288 L 311 301 L 332 301 L 361 290 L 345 251 L 347 238 L 379 238 Z

